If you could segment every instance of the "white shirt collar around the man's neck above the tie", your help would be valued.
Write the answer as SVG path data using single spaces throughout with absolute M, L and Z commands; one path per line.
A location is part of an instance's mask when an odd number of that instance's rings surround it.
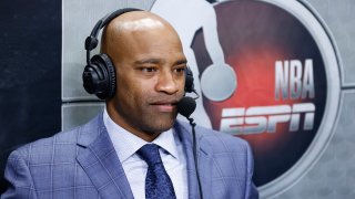
M 121 164 L 132 157 L 143 145 L 149 144 L 144 139 L 125 130 L 115 124 L 109 116 L 106 108 L 103 111 L 103 123 L 108 129 L 113 147 L 119 156 Z M 178 138 L 175 130 L 169 129 L 161 133 L 152 143 L 159 145 L 163 151 L 179 159 L 175 139 Z M 178 138 L 179 139 L 179 138 Z

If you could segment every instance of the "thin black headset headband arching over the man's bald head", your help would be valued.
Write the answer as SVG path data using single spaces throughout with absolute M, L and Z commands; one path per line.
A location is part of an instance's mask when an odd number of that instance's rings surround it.
M 114 12 L 109 13 L 108 15 L 103 17 L 101 20 L 97 22 L 97 24 L 93 27 L 90 36 L 85 40 L 85 50 L 87 50 L 87 63 L 90 64 L 90 51 L 95 49 L 98 46 L 99 40 L 98 34 L 99 31 L 104 28 L 112 19 L 131 11 L 142 11 L 136 8 L 124 8 L 116 10 Z

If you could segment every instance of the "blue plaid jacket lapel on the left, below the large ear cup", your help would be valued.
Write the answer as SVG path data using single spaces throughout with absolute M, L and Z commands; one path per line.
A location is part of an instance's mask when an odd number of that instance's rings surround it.
M 89 123 L 80 133 L 77 160 L 97 187 L 102 198 L 133 198 L 131 187 L 116 156 L 102 114 Z

